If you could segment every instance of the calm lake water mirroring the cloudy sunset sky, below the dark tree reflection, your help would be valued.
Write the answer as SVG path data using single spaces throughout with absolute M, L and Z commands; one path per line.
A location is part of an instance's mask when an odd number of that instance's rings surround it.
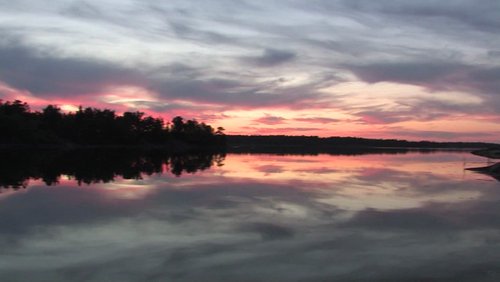
M 467 152 L 103 162 L 3 165 L 0 281 L 500 281 Z

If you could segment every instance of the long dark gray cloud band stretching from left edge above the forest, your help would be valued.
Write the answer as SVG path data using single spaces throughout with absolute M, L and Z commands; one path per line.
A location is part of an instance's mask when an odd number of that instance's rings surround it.
M 111 62 L 62 58 L 19 45 L 0 48 L 0 80 L 39 97 L 95 95 L 111 86 L 150 89 L 165 101 L 267 107 L 304 106 L 301 102 L 320 96 L 316 83 L 278 89 L 252 78 L 204 78 L 206 73 L 186 64 L 173 63 L 154 69 L 131 69 Z M 118 93 L 119 94 L 119 93 Z M 139 105 L 139 104 L 138 104 Z M 174 104 L 170 104 L 172 108 Z

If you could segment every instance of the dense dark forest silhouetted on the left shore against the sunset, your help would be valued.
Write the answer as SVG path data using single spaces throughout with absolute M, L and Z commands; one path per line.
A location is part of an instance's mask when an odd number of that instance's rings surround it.
M 27 103 L 0 100 L 0 144 L 7 145 L 163 145 L 224 147 L 223 128 L 196 120 L 161 118 L 142 112 L 116 114 L 109 109 L 82 108 L 65 113 L 55 105 L 31 111 Z

